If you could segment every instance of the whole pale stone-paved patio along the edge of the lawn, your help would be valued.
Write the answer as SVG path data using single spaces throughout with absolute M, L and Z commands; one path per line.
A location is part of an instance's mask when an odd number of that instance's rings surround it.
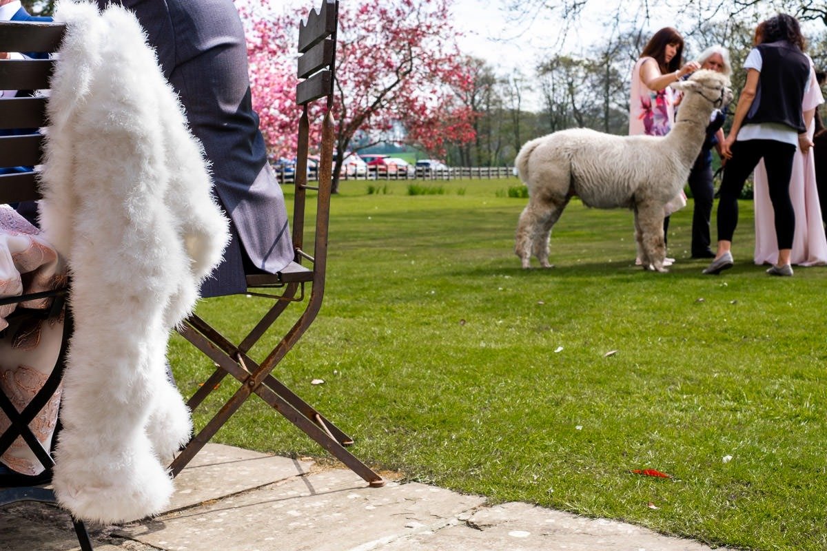
M 527 503 L 491 506 L 415 482 L 370 488 L 345 468 L 208 444 L 175 481 L 163 515 L 90 526 L 97 551 L 705 551 L 613 520 Z M 80 549 L 69 515 L 17 503 L 0 513 L 0 550 Z M 722 548 L 718 548 L 722 549 Z

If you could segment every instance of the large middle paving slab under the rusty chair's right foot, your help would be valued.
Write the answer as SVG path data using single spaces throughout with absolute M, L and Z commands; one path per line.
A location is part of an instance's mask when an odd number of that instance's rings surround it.
M 439 530 L 484 501 L 418 483 L 370 488 L 337 469 L 163 515 L 120 534 L 170 551 L 356 551 Z

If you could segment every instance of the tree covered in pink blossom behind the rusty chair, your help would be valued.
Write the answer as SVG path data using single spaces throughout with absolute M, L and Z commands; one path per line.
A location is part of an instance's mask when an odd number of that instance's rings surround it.
M 461 102 L 472 79 L 457 48 L 451 7 L 452 0 L 340 4 L 334 174 L 357 132 L 375 143 L 402 126 L 399 141 L 433 156 L 443 156 L 449 143 L 474 140 L 476 113 Z M 294 51 L 299 20 L 307 14 L 275 14 L 270 0 L 251 0 L 241 15 L 247 26 L 253 105 L 265 140 L 271 154 L 292 158 L 299 118 Z M 337 187 L 336 181 L 334 192 Z

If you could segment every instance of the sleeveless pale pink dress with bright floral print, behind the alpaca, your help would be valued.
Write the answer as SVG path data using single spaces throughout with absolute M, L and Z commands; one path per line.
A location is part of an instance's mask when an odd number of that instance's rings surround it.
M 640 67 L 647 59 L 638 59 L 632 69 L 629 98 L 629 135 L 667 135 L 675 123 L 675 91 L 671 87 L 655 92 L 640 79 Z M 668 202 L 664 214 L 686 207 L 686 194 L 681 192 Z

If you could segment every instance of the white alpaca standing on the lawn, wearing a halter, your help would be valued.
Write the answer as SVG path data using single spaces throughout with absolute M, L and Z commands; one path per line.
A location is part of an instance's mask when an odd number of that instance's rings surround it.
M 514 252 L 529 267 L 534 254 L 548 264 L 548 239 L 571 197 L 595 208 L 634 211 L 635 239 L 644 269 L 666 272 L 663 207 L 681 191 L 705 140 L 715 108 L 732 99 L 729 79 L 700 70 L 672 88 L 685 94 L 665 136 L 609 135 L 586 128 L 531 140 L 514 164 L 528 186 Z

